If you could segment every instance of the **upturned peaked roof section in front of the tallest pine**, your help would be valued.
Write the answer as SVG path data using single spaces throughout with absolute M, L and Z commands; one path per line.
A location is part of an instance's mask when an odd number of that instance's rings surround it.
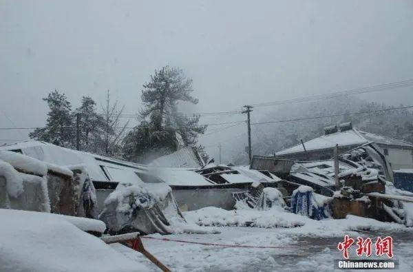
M 150 165 L 158 167 L 202 167 L 204 161 L 194 147 L 183 147 L 172 154 L 153 160 Z

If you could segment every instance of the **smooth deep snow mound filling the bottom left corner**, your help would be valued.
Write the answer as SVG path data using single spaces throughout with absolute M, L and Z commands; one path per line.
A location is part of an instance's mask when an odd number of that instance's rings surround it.
M 0 209 L 0 271 L 148 271 L 51 213 Z

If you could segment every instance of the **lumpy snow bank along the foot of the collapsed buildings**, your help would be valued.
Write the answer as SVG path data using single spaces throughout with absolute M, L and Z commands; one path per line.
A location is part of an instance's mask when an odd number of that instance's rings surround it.
M 372 218 L 348 215 L 345 219 L 313 220 L 290 213 L 281 207 L 267 211 L 243 209 L 226 211 L 217 207 L 206 207 L 184 212 L 188 222 L 201 226 L 237 226 L 281 228 L 279 233 L 297 236 L 342 237 L 348 231 L 413 231 L 402 224 L 380 222 Z

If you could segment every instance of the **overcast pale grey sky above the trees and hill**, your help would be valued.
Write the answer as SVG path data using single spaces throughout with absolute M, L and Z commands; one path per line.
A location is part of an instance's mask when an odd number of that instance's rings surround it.
M 193 79 L 189 112 L 215 112 L 413 79 L 412 49 L 412 0 L 0 0 L 0 127 L 44 125 L 54 89 L 74 107 L 110 89 L 136 113 L 163 65 Z M 413 104 L 413 88 L 372 98 Z

